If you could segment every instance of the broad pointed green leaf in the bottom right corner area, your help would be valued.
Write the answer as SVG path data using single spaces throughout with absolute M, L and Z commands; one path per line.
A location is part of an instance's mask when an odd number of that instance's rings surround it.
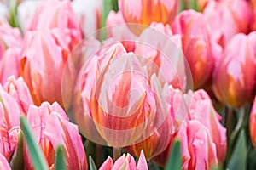
M 247 167 L 247 144 L 244 129 L 241 129 L 236 146 L 228 164 L 229 169 L 246 169 Z

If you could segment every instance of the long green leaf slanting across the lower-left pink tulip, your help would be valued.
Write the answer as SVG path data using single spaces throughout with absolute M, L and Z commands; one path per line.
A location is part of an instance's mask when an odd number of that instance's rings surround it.
M 26 139 L 26 145 L 28 147 L 29 155 L 32 159 L 33 167 L 37 170 L 47 170 L 48 165 L 45 160 L 44 154 L 42 150 L 39 148 L 36 140 L 32 135 L 32 128 L 29 126 L 28 122 L 26 121 L 25 116 L 20 116 L 20 124 L 23 130 L 23 134 Z

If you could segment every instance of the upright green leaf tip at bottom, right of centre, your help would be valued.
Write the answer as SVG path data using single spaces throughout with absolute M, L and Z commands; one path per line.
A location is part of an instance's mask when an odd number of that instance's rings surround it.
M 182 167 L 181 144 L 175 139 L 172 145 L 172 152 L 166 164 L 166 169 L 180 170 Z

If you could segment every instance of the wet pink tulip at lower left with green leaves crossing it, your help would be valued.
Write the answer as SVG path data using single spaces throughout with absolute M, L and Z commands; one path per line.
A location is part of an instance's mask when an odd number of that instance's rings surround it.
M 62 145 L 68 169 L 87 169 L 78 127 L 69 122 L 60 105 L 57 103 L 49 105 L 47 102 L 39 107 L 31 105 L 27 120 L 32 126 L 36 142 L 43 150 L 49 167 L 54 166 L 55 151 L 59 145 Z M 24 151 L 25 165 L 27 169 L 32 169 L 32 162 L 27 151 L 26 148 Z

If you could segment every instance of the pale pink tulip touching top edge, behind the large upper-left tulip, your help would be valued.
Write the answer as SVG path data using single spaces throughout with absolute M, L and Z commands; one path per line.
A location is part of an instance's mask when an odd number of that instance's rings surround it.
M 44 30 L 60 28 L 67 38 L 68 47 L 72 50 L 81 40 L 82 31 L 79 27 L 70 1 L 46 1 L 40 3 L 28 30 Z

